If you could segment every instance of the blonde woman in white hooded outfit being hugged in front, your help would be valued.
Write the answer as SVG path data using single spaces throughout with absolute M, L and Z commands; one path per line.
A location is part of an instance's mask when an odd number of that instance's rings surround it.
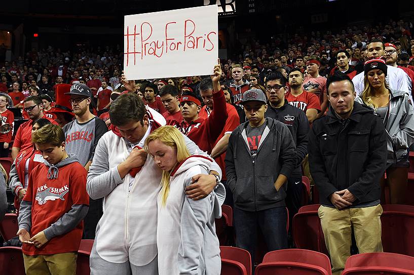
M 214 192 L 201 200 L 185 188 L 196 174 L 208 174 L 212 159 L 191 156 L 181 132 L 163 126 L 145 140 L 145 150 L 163 170 L 158 196 L 159 274 L 220 274 L 220 249 L 214 219 L 221 208 Z

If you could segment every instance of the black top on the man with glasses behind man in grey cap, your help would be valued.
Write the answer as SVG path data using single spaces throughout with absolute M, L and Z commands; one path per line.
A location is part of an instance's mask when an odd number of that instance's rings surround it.
M 302 175 L 302 161 L 308 154 L 308 118 L 304 111 L 290 105 L 287 99 L 285 99 L 284 105 L 280 108 L 273 108 L 270 104 L 268 106 L 265 117 L 271 117 L 283 122 L 292 134 L 296 145 L 296 169 L 292 176 L 300 176 Z

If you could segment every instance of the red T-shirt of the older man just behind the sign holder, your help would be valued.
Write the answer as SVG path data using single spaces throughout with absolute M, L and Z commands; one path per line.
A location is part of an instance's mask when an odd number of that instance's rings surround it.
M 236 127 L 239 126 L 240 124 L 240 118 L 239 118 L 239 114 L 237 113 L 236 108 L 234 108 L 234 106 L 228 103 L 226 103 L 225 106 L 227 107 L 228 117 L 227 117 L 227 120 L 225 121 L 224 129 L 221 131 L 220 135 L 217 138 L 217 141 L 213 144 L 212 148 L 216 146 L 217 142 L 224 136 L 224 134 L 231 134 L 233 130 L 236 129 Z M 201 111 L 198 117 L 202 119 L 207 119 L 209 115 L 210 115 L 210 112 L 206 109 L 206 106 L 204 106 L 203 108 L 201 108 Z M 215 158 L 214 160 L 217 162 L 217 164 L 221 168 L 221 173 L 223 175 L 222 179 L 227 180 L 227 177 L 225 176 L 224 159 L 225 159 L 225 152 L 222 153 L 217 158 Z

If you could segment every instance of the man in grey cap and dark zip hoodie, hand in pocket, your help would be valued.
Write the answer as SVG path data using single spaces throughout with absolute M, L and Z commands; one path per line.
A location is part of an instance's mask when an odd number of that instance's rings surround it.
M 257 226 L 270 251 L 287 248 L 285 182 L 296 167 L 296 155 L 287 126 L 265 118 L 262 90 L 245 91 L 243 107 L 249 121 L 230 135 L 225 168 L 235 205 L 236 245 L 254 261 Z

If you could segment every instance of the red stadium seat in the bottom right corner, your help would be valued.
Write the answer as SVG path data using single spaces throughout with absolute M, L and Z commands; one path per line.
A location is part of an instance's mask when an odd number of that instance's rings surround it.
M 348 258 L 342 275 L 414 274 L 414 257 L 395 253 L 364 253 Z

